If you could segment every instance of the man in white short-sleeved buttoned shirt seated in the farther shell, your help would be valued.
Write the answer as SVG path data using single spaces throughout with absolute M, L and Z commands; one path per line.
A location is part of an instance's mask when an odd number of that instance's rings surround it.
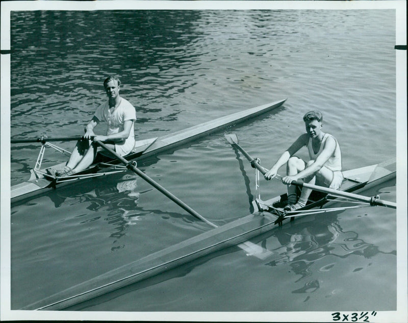
M 71 176 L 89 167 L 96 157 L 96 153 L 103 151 L 95 141 L 102 141 L 120 156 L 129 154 L 135 145 L 136 110 L 134 106 L 119 95 L 120 80 L 110 76 L 104 81 L 108 101 L 101 104 L 92 120 L 85 127 L 84 140 L 79 140 L 72 152 L 68 163 L 62 170 L 48 168 L 54 176 Z M 95 135 L 94 128 L 100 121 L 107 122 L 106 135 Z M 93 139 L 93 141 L 91 140 Z

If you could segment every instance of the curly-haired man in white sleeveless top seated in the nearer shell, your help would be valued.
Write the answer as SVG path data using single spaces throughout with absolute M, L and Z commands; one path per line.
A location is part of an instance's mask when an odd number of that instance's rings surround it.
M 310 111 L 303 116 L 303 121 L 306 133 L 300 135 L 264 175 L 266 180 L 273 179 L 278 169 L 287 163 L 287 176 L 282 182 L 288 185 L 288 201 L 274 205 L 284 207 L 286 211 L 304 207 L 312 192 L 311 189 L 303 187 L 297 200 L 296 186 L 290 185 L 293 181 L 303 180 L 305 183 L 333 189 L 338 189 L 343 181 L 340 146 L 335 137 L 322 132 L 322 113 L 317 110 Z M 308 163 L 294 156 L 303 146 L 309 150 Z

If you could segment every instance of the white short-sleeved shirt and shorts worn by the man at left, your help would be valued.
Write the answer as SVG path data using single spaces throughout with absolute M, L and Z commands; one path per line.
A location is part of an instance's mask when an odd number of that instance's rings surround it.
M 123 130 L 124 121 L 133 120 L 129 137 L 123 141 L 115 142 L 116 153 L 118 153 L 120 156 L 129 154 L 135 145 L 135 107 L 122 97 L 119 105 L 112 112 L 109 109 L 109 101 L 106 101 L 96 109 L 94 116 L 99 121 L 107 122 L 107 135 L 121 132 Z

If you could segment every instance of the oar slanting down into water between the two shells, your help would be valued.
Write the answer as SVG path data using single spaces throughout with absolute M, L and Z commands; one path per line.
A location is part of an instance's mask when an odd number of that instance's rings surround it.
M 190 208 L 187 204 L 185 204 L 183 201 L 181 201 L 180 198 L 176 197 L 175 195 L 170 193 L 168 190 L 166 190 L 164 187 L 162 187 L 160 184 L 158 184 L 157 182 L 152 180 L 150 177 L 148 177 L 144 172 L 142 172 L 139 168 L 137 168 L 132 162 L 124 159 L 122 156 L 119 156 L 115 151 L 113 151 L 111 148 L 109 148 L 103 142 L 97 140 L 96 143 L 98 145 L 100 145 L 101 147 L 103 147 L 107 152 L 109 152 L 110 154 L 115 156 L 116 159 L 119 160 L 122 164 L 124 164 L 128 169 L 135 172 L 138 176 L 140 176 L 143 180 L 145 180 L 151 186 L 153 186 L 158 191 L 160 191 L 161 193 L 166 195 L 168 198 L 170 198 L 170 200 L 173 201 L 175 204 L 181 206 L 184 210 L 186 210 L 191 215 L 195 216 L 197 219 L 200 219 L 201 221 L 204 221 L 204 222 L 208 223 L 210 226 L 212 226 L 214 228 L 218 228 L 217 225 L 210 222 L 206 218 L 202 217 L 200 214 L 198 214 L 196 211 L 194 211 L 192 208 Z

